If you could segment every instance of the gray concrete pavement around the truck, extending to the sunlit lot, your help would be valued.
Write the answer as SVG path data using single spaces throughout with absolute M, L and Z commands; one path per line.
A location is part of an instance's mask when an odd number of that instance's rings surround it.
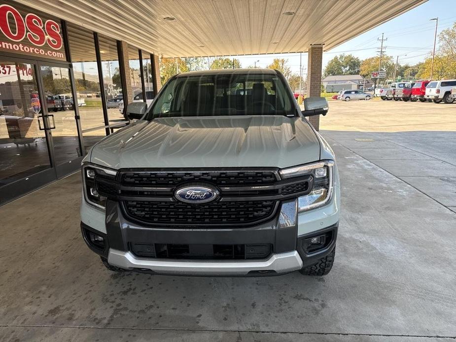
M 109 273 L 80 175 L 0 207 L 0 341 L 455 341 L 456 104 L 331 102 L 342 183 L 325 277 Z

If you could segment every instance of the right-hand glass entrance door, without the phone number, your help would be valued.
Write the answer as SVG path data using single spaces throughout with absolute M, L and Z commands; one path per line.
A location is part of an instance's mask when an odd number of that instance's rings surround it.
M 78 103 L 72 96 L 69 68 L 41 64 L 40 74 L 52 136 L 54 165 L 60 177 L 74 169 L 69 164 L 82 156 L 76 126 L 75 106 Z

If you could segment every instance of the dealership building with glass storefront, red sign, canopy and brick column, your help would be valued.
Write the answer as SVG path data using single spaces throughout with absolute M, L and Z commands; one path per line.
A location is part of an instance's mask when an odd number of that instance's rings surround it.
M 161 88 L 159 56 L 308 52 L 319 96 L 324 50 L 424 1 L 273 2 L 1 1 L 0 204 L 77 171 L 128 125 L 123 104 Z

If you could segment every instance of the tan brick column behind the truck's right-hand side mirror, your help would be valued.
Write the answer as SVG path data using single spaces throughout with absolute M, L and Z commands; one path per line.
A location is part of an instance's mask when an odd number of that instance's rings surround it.
M 323 46 L 311 45 L 307 62 L 307 97 L 321 95 L 321 63 L 323 59 Z M 310 116 L 309 121 L 318 131 L 320 116 Z

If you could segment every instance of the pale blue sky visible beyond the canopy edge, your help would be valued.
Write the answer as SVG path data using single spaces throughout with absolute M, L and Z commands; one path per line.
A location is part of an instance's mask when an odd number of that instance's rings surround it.
M 406 1 L 406 0 L 403 0 Z M 396 59 L 399 64 L 413 65 L 423 61 L 432 52 L 434 44 L 435 21 L 439 18 L 437 35 L 444 29 L 450 28 L 456 22 L 456 0 L 429 0 L 414 9 L 377 26 L 376 28 L 360 34 L 351 40 L 323 53 L 323 69 L 336 55 L 352 54 L 360 59 L 377 55 L 380 41 L 377 39 L 385 34 L 385 52 Z M 438 38 L 438 37 L 437 37 Z M 438 46 L 438 42 L 437 42 Z M 288 66 L 294 73 L 299 74 L 300 54 L 271 54 L 254 56 L 230 56 L 237 58 L 241 66 L 246 68 L 254 65 L 265 68 L 274 58 L 288 60 Z M 307 67 L 307 53 L 302 54 L 302 67 Z M 306 73 L 306 70 L 303 71 Z

